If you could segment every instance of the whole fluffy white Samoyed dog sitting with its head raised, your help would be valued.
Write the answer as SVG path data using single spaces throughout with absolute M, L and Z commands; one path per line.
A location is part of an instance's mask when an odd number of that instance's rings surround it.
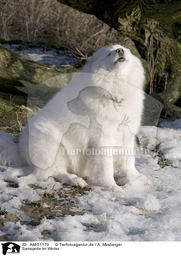
M 135 134 L 144 100 L 144 69 L 129 49 L 112 45 L 88 57 L 23 129 L 19 142 L 0 132 L 0 163 L 30 165 L 39 180 L 53 176 L 70 186 L 102 186 L 122 192 L 125 178 L 148 179 L 135 168 Z

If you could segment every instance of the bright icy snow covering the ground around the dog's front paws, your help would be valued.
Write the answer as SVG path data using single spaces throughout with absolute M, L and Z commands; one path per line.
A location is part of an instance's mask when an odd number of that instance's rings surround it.
M 4 221 L 0 236 L 7 241 L 179 241 L 180 127 L 181 120 L 162 122 L 156 134 L 157 157 L 136 157 L 136 168 L 150 179 L 148 186 L 135 178 L 123 186 L 122 193 L 95 186 L 76 194 L 71 205 L 65 196 L 72 193 L 71 187 L 53 178 L 37 181 L 29 167 L 0 167 L 1 219 L 15 215 Z M 153 126 L 142 126 L 138 134 L 140 144 L 150 151 L 155 147 L 154 134 Z M 162 154 L 169 160 L 163 161 Z M 42 193 L 53 193 L 54 206 L 49 208 L 49 196 L 41 206 L 52 217 L 44 215 L 39 225 L 33 225 L 23 204 L 41 202 Z M 61 215 L 61 200 L 73 214 Z

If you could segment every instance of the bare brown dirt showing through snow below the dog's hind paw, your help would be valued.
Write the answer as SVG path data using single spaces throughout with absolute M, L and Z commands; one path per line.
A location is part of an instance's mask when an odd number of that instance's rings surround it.
M 9 183 L 8 186 L 13 188 L 18 187 L 18 185 L 15 184 L 14 182 Z M 29 186 L 31 186 L 31 188 L 33 189 L 39 188 L 38 186 L 35 185 Z M 76 204 L 75 197 L 83 195 L 84 192 L 88 190 L 90 189 L 74 188 L 71 186 L 62 185 L 62 188 L 56 191 L 56 194 L 58 193 L 58 197 L 60 199 L 57 199 L 57 197 L 55 197 L 55 192 L 45 192 L 41 194 L 41 200 L 39 201 L 24 201 L 19 210 L 23 211 L 23 213 L 25 213 L 32 220 L 29 222 L 21 221 L 22 225 L 26 224 L 31 226 L 37 226 L 45 217 L 46 219 L 54 219 L 56 217 L 64 217 L 66 215 L 83 215 L 85 212 L 79 210 L 79 206 L 78 204 Z M 46 207 L 43 206 L 43 204 L 46 204 Z M 8 213 L 6 211 L 0 211 L 0 215 L 4 215 L 4 217 L 0 219 L 0 229 L 4 227 L 4 223 L 6 223 L 6 221 L 12 221 L 14 225 L 16 224 L 16 221 L 20 221 L 20 219 L 16 215 Z M 45 232 L 48 233 L 48 230 L 43 230 L 43 233 Z M 0 241 L 6 242 L 8 240 L 8 235 L 10 234 L 1 235 Z

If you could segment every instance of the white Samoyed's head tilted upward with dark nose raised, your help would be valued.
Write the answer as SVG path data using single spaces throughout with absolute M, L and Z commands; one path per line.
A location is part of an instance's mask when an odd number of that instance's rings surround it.
M 141 60 L 122 45 L 99 49 L 93 56 L 88 57 L 87 61 L 84 72 L 119 77 L 122 81 L 139 88 L 143 85 L 144 69 Z

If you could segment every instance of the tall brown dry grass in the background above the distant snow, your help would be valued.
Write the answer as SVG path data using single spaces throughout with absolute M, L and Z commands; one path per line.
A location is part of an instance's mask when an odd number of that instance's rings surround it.
M 84 53 L 131 42 L 95 16 L 56 0 L 0 0 L 0 39 L 69 45 Z

